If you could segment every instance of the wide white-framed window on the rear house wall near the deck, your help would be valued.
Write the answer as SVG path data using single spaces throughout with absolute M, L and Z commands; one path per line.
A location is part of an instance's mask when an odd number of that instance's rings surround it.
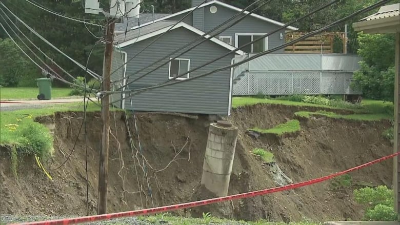
M 247 43 L 258 39 L 265 34 L 266 33 L 236 33 L 235 47 L 238 48 L 246 45 Z M 268 50 L 268 37 L 258 40 L 251 45 L 245 46 L 241 50 L 247 53 L 258 53 L 266 51 Z

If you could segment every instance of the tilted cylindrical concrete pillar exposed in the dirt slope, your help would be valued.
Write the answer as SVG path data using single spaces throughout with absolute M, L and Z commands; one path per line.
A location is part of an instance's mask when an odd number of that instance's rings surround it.
M 202 185 L 218 197 L 228 195 L 238 129 L 228 121 L 210 125 Z

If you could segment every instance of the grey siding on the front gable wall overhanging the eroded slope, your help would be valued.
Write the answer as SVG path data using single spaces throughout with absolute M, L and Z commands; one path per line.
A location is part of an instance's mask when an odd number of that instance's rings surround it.
M 156 37 L 157 36 L 124 48 L 124 51 L 128 53 L 128 58 L 135 55 L 137 51 L 142 50 Z M 165 55 L 168 55 L 177 48 L 184 46 L 197 37 L 197 34 L 188 31 L 185 28 L 177 28 L 166 33 L 157 42 L 147 48 L 146 51 L 139 54 L 134 60 L 128 63 L 127 74 L 128 76 L 131 75 L 129 81 L 132 81 L 134 78 L 150 71 L 149 68 L 137 73 L 139 69 L 149 66 L 151 63 Z M 190 69 L 194 69 L 228 51 L 229 50 L 212 43 L 211 41 L 207 41 L 188 53 L 179 56 L 179 58 L 190 59 Z M 234 54 L 231 54 L 225 58 L 217 60 L 206 67 L 190 73 L 190 77 L 198 76 L 214 69 L 230 65 L 233 57 Z M 167 60 L 168 59 L 165 59 L 163 63 L 167 62 Z M 161 64 L 157 64 L 156 66 L 159 65 Z M 155 68 L 156 67 L 153 66 L 151 69 Z M 168 71 L 169 64 L 166 64 L 130 85 L 129 89 L 150 87 L 162 83 L 168 80 Z M 134 95 L 132 96 L 133 109 L 137 111 L 227 115 L 230 97 L 229 88 L 230 69 L 227 69 L 205 77 Z M 129 97 L 125 101 L 125 107 L 126 109 L 131 109 L 131 100 Z

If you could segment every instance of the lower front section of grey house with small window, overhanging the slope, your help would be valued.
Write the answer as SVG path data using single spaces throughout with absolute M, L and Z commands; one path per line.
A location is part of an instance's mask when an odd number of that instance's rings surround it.
M 117 36 L 116 40 L 118 44 L 115 46 L 114 51 L 113 71 L 120 67 L 126 61 L 126 58 L 129 59 L 135 56 L 139 51 L 152 43 L 155 38 L 164 33 L 161 38 L 150 45 L 145 51 L 128 62 L 125 68 L 121 68 L 112 74 L 113 90 L 121 89 L 124 84 L 129 84 L 135 78 L 167 62 L 169 58 L 164 59 L 162 63 L 158 63 L 137 73 L 138 70 L 150 66 L 158 59 L 190 43 L 193 39 L 198 38 L 199 35 L 204 34 L 203 31 L 185 23 L 178 23 L 176 26 L 172 24 L 168 25 L 167 21 L 162 21 L 162 23 L 157 22 L 141 28 L 140 34 L 137 30 L 132 30 L 127 35 L 121 34 Z M 171 30 L 166 32 L 170 28 Z M 187 67 L 189 67 L 189 70 L 192 70 L 208 63 L 210 59 L 224 55 L 233 49 L 234 47 L 221 40 L 211 38 L 191 51 L 179 56 L 179 59 L 181 59 L 179 67 L 175 67 L 174 63 L 167 63 L 145 77 L 129 84 L 123 94 L 113 94 L 112 98 L 114 101 L 125 98 L 125 100 L 118 101 L 116 105 L 127 110 L 229 115 L 233 80 L 230 69 L 187 81 L 179 80 L 179 83 L 148 90 L 137 95 L 130 95 L 128 91 L 155 86 L 168 80 L 173 83 L 176 79 L 171 77 L 173 75 L 170 73 L 176 72 L 174 68 L 180 68 L 186 72 Z M 244 53 L 236 51 L 236 54 L 243 55 Z M 175 56 L 177 54 L 171 57 Z M 234 56 L 235 54 L 232 53 L 222 59 L 216 60 L 210 65 L 191 72 L 185 78 L 197 77 L 217 68 L 230 65 Z M 179 72 L 179 74 L 182 74 L 182 72 Z

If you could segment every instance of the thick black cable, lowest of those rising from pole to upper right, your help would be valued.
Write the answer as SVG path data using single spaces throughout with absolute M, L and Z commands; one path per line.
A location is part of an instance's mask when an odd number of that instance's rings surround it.
M 381 6 L 381 5 L 384 5 L 385 3 L 389 2 L 389 1 L 391 1 L 391 0 L 381 0 L 381 1 L 379 1 L 379 2 L 377 2 L 377 3 L 375 3 L 375 4 L 373 4 L 373 5 L 371 5 L 371 6 L 369 6 L 369 7 L 365 7 L 364 9 L 358 10 L 358 11 L 356 11 L 356 12 L 354 12 L 354 13 L 352 13 L 352 14 L 350 14 L 350 15 L 348 15 L 348 16 L 342 18 L 342 19 L 339 19 L 338 21 L 335 21 L 335 22 L 331 23 L 330 25 L 327 25 L 327 26 L 325 26 L 325 27 L 323 27 L 323 28 L 321 28 L 321 29 L 312 31 L 312 32 L 310 32 L 310 33 L 308 33 L 308 34 L 306 34 L 306 35 L 304 35 L 304 36 L 302 36 L 302 37 L 299 37 L 299 38 L 297 38 L 297 39 L 295 39 L 295 40 L 292 40 L 291 42 L 288 42 L 288 43 L 286 43 L 286 44 L 284 44 L 284 45 L 275 47 L 275 48 L 273 48 L 273 49 L 271 49 L 271 50 L 258 53 L 258 54 L 254 55 L 254 56 L 251 56 L 251 57 L 249 57 L 249 58 L 247 58 L 247 59 L 245 59 L 245 60 L 239 62 L 239 63 L 235 63 L 235 64 L 232 64 L 232 65 L 229 65 L 229 66 L 221 67 L 221 68 L 218 68 L 218 69 L 216 69 L 216 70 L 213 70 L 213 71 L 211 71 L 211 72 L 208 72 L 208 73 L 205 73 L 205 74 L 202 74 L 202 75 L 199 75 L 199 76 L 187 78 L 187 79 L 184 79 L 184 80 L 178 80 L 178 81 L 175 81 L 175 82 L 173 82 L 173 83 L 155 85 L 155 86 L 152 86 L 152 87 L 149 87 L 149 88 L 142 88 L 142 89 L 136 89 L 136 90 L 132 90 L 132 91 L 123 91 L 123 92 L 133 92 L 133 91 L 135 91 L 136 93 L 133 93 L 133 94 L 136 95 L 136 94 L 139 94 L 139 93 L 142 93 L 142 92 L 144 92 L 144 91 L 151 90 L 151 89 L 156 89 L 156 88 L 166 87 L 166 86 L 170 86 L 170 85 L 175 85 L 175 84 L 177 84 L 177 83 L 182 83 L 182 82 L 185 82 L 185 81 L 197 79 L 197 78 L 200 78 L 200 77 L 204 77 L 204 76 L 213 74 L 213 73 L 218 72 L 218 71 L 222 71 L 222 70 L 226 70 L 226 69 L 229 69 L 229 68 L 236 67 L 236 66 L 238 66 L 238 65 L 247 63 L 247 62 L 249 62 L 249 61 L 251 61 L 251 60 L 253 60 L 253 59 L 255 59 L 255 58 L 258 58 L 258 57 L 260 57 L 260 56 L 263 56 L 263 55 L 269 54 L 269 53 L 271 53 L 271 52 L 274 52 L 274 51 L 276 51 L 276 50 L 279 50 L 279 49 L 285 48 L 285 47 L 287 47 L 287 46 L 293 45 L 293 44 L 295 44 L 295 43 L 297 43 L 297 42 L 299 42 L 299 41 L 301 41 L 301 40 L 303 40 L 303 39 L 306 39 L 307 37 L 310 37 L 310 36 L 313 36 L 313 35 L 315 35 L 315 34 L 321 33 L 322 31 L 324 31 L 324 30 L 326 30 L 326 29 L 329 29 L 329 28 L 334 27 L 334 26 L 336 26 L 336 25 L 338 25 L 338 24 L 341 24 L 342 22 L 346 21 L 346 20 L 349 19 L 349 18 L 352 18 L 352 17 L 354 17 L 354 16 L 356 16 L 356 15 L 358 15 L 358 14 L 364 13 L 364 12 L 368 12 L 368 11 L 370 11 L 370 10 L 376 8 L 376 7 L 379 7 L 379 6 Z M 184 74 L 183 74 L 183 75 L 184 75 Z M 182 76 L 182 75 L 181 75 L 181 76 Z

